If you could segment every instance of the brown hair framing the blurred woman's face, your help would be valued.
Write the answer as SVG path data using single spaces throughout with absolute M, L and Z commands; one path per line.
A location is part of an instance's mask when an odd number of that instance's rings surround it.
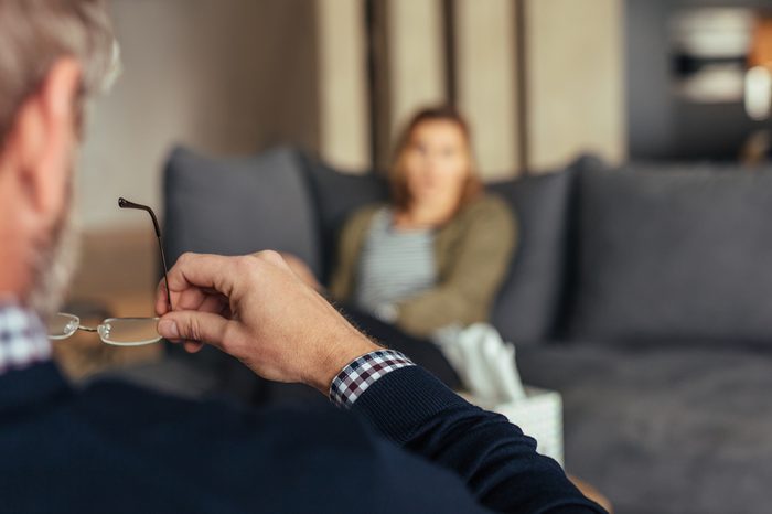
M 425 121 L 451 121 L 455 124 L 463 133 L 464 141 L 467 142 L 470 169 L 467 174 L 467 184 L 464 184 L 461 196 L 459 197 L 458 206 L 460 208 L 480 195 L 480 192 L 482 191 L 482 182 L 478 176 L 476 167 L 474 165 L 474 158 L 472 156 L 472 136 L 469 129 L 469 124 L 454 107 L 447 105 L 419 110 L 414 115 L 410 122 L 407 124 L 403 132 L 399 135 L 399 138 L 397 139 L 397 147 L 394 152 L 394 161 L 388 171 L 388 181 L 392 188 L 392 203 L 394 203 L 398 210 L 405 210 L 410 204 L 411 199 L 410 191 L 407 186 L 407 179 L 405 176 L 404 156 L 405 151 L 410 144 L 414 130 L 416 130 L 416 127 Z

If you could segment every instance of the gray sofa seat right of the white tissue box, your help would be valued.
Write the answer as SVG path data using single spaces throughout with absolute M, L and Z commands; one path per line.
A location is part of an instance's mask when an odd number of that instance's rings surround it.
M 564 399 L 566 469 L 616 514 L 766 514 L 772 352 L 524 346 L 527 384 Z

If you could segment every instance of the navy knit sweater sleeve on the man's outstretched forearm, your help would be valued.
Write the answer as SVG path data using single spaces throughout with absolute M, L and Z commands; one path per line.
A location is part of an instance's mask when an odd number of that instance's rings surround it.
M 383 436 L 451 470 L 484 507 L 507 513 L 604 513 L 536 441 L 463 400 L 419 366 L 380 377 L 354 403 Z

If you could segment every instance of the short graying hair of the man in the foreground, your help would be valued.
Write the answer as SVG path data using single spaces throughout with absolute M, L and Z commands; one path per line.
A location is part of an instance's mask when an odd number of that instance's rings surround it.
M 81 63 L 81 98 L 99 93 L 117 66 L 104 0 L 0 0 L 0 146 L 18 109 L 54 63 Z

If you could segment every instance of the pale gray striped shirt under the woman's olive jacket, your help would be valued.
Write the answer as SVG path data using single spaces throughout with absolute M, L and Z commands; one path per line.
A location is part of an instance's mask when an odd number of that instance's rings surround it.
M 394 227 L 390 208 L 371 223 L 360 256 L 354 304 L 378 318 L 389 318 L 394 304 L 437 283 L 435 231 Z M 388 320 L 392 321 L 392 320 Z

